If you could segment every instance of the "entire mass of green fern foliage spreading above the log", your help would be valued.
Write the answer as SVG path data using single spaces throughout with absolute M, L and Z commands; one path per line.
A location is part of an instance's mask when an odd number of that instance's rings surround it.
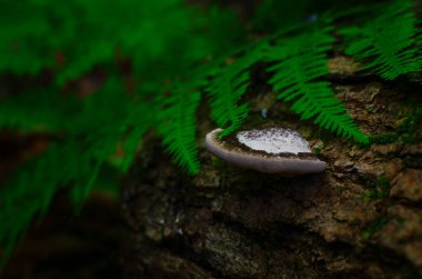
M 328 2 L 334 9 L 338 1 Z M 233 12 L 181 0 L 0 1 L 0 72 L 23 83 L 52 74 L 51 82 L 18 93 L 6 86 L 0 94 L 0 128 L 52 136 L 44 152 L 0 188 L 2 261 L 58 189 L 68 187 L 80 209 L 104 166 L 124 173 L 150 130 L 182 170 L 198 173 L 201 97 L 208 96 L 211 119 L 224 128 L 220 137 L 234 132 L 248 119 L 243 96 L 258 62 L 272 73 L 279 99 L 302 119 L 368 142 L 325 79 L 329 52 L 341 40 L 336 22 L 312 7 L 264 1 L 252 29 L 271 28 L 250 36 Z M 363 27 L 342 28 L 345 52 L 384 79 L 419 70 L 422 40 L 411 7 L 409 0 L 388 1 Z M 344 14 L 352 8 L 343 7 Z M 278 21 L 280 9 L 290 17 Z M 69 89 L 96 69 L 105 82 L 92 81 L 84 93 Z

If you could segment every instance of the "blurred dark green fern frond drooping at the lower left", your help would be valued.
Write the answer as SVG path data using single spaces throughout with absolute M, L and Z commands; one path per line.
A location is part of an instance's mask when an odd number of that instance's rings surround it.
M 115 81 L 111 79 L 99 92 L 79 102 L 54 98 L 57 94 L 49 90 L 0 102 L 1 128 L 33 131 L 41 126 L 43 131 L 67 136 L 64 141 L 51 143 L 39 159 L 27 162 L 0 188 L 3 262 L 31 220 L 46 213 L 60 187 L 71 186 L 70 197 L 80 210 L 119 142 L 123 141 L 124 157 L 114 166 L 125 171 L 133 160 L 151 120 L 147 104 L 131 101 Z

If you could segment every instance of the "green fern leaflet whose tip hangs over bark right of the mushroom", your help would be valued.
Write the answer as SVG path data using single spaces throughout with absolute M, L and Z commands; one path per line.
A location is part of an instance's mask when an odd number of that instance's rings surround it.
M 293 101 L 291 109 L 302 119 L 316 117 L 314 123 L 336 134 L 351 137 L 359 142 L 368 138 L 343 104 L 334 97 L 330 83 L 318 79 L 329 73 L 325 52 L 334 41 L 330 26 L 311 33 L 287 39 L 282 46 L 267 53 L 267 60 L 273 62 L 268 68 L 273 72 L 269 82 L 280 90 L 278 99 Z

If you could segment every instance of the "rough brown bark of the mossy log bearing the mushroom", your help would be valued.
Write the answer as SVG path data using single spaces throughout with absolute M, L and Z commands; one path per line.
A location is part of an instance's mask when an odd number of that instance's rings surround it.
M 287 178 L 228 166 L 203 148 L 213 127 L 201 109 L 199 176 L 183 176 L 151 139 L 123 183 L 127 278 L 422 275 L 421 82 L 361 76 L 341 57 L 330 69 L 336 97 L 378 143 L 356 146 L 301 121 L 258 69 L 247 126 L 297 129 L 326 171 Z

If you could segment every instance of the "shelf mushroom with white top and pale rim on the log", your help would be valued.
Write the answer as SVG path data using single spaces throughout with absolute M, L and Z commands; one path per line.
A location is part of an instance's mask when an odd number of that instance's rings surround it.
M 214 156 L 238 167 L 267 173 L 299 176 L 325 170 L 326 163 L 314 156 L 297 131 L 264 128 L 240 131 L 222 140 L 215 129 L 205 137 L 205 148 Z

